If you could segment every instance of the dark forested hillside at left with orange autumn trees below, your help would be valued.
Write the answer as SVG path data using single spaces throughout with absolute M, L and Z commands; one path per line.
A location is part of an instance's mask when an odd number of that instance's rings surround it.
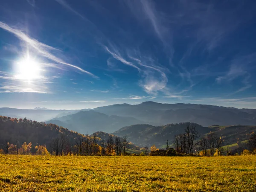
M 126 137 L 83 135 L 52 123 L 0 116 L 0 153 L 113 155 L 125 154 L 128 148 L 140 149 Z

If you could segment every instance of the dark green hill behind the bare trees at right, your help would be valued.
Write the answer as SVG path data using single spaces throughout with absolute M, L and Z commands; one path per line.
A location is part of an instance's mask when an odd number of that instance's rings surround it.
M 247 140 L 250 134 L 256 131 L 256 126 L 232 125 L 203 127 L 195 123 L 185 122 L 163 126 L 131 125 L 123 127 L 113 132 L 113 134 L 117 136 L 127 135 L 128 139 L 135 145 L 156 145 L 157 147 L 162 147 L 167 139 L 172 143 L 175 135 L 184 133 L 187 125 L 195 126 L 200 137 L 207 135 L 211 131 L 215 132 L 218 137 L 224 138 L 226 144 L 236 143 L 238 138 L 240 141 Z

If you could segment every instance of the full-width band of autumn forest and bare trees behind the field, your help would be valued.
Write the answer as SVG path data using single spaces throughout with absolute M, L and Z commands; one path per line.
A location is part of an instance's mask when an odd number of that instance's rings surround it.
M 221 156 L 256 153 L 254 132 L 250 134 L 250 139 L 246 143 L 238 141 L 238 148 L 231 150 L 229 145 L 225 145 L 225 137 L 218 137 L 214 132 L 199 134 L 192 123 L 186 125 L 184 133 L 175 135 L 174 138 L 170 138 L 171 140 L 167 139 L 163 148 L 157 148 L 155 145 L 136 146 L 128 140 L 127 135 L 117 137 L 104 132 L 83 135 L 55 124 L 26 118 L 0 116 L 0 128 L 2 154 L 119 156 L 131 154 L 132 150 L 137 151 L 137 155 L 145 156 Z

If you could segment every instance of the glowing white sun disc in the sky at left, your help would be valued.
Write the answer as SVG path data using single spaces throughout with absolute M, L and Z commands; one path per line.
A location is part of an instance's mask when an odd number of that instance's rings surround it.
M 17 79 L 40 79 L 40 72 L 40 64 L 29 57 L 17 62 Z

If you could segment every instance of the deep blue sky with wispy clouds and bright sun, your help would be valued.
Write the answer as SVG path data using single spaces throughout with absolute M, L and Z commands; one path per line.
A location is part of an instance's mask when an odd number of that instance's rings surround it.
M 0 107 L 256 108 L 256 2 L 1 0 Z

